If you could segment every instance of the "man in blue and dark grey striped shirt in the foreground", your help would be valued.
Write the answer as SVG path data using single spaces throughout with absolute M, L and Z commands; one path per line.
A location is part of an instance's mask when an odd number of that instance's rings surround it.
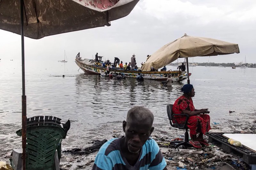
M 145 107 L 130 109 L 123 121 L 125 136 L 108 140 L 100 147 L 92 170 L 167 170 L 166 161 L 156 141 L 153 113 Z

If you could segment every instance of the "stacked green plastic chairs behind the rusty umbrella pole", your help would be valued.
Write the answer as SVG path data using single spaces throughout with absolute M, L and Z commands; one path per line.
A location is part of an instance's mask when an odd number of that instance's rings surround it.
M 46 119 L 47 118 L 47 119 Z M 27 170 L 55 170 L 59 167 L 59 160 L 61 156 L 61 140 L 66 137 L 67 131 L 69 129 L 63 129 L 60 126 L 60 119 L 58 121 L 52 119 L 56 117 L 33 117 L 28 119 L 27 127 L 27 158 L 26 158 L 26 169 Z M 37 120 L 34 120 L 37 119 Z M 42 121 L 43 120 L 43 121 Z M 57 123 L 56 123 L 57 122 Z M 69 122 L 69 121 L 68 121 Z M 70 126 L 70 125 L 69 125 Z M 64 125 L 63 125 L 64 127 Z M 16 132 L 18 136 L 22 136 L 21 130 Z M 55 152 L 58 152 L 56 154 Z M 21 150 L 20 150 L 21 151 Z M 17 152 L 17 150 L 13 150 Z M 22 151 L 21 151 L 22 152 Z M 20 153 L 18 153 L 20 154 Z M 58 155 L 58 156 L 57 156 Z M 54 160 L 55 159 L 55 160 Z M 57 159 L 57 160 L 56 160 Z M 17 162 L 17 160 L 19 162 Z M 22 164 L 22 159 L 20 156 L 18 159 L 10 159 L 11 166 L 13 168 L 19 169 Z M 57 161 L 57 168 L 54 165 Z M 19 165 L 19 167 L 15 167 Z M 16 170 L 17 170 L 16 169 Z

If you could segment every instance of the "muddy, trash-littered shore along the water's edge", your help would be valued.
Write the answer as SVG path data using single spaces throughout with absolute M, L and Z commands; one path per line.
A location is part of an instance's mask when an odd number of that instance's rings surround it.
M 232 113 L 236 120 L 222 119 L 212 122 L 212 130 L 210 132 L 238 132 L 238 133 L 256 133 L 256 116 L 255 110 L 252 110 L 248 117 L 241 117 L 244 113 Z M 217 121 L 217 120 L 214 120 Z M 167 168 L 172 169 L 246 169 L 247 165 L 240 162 L 241 167 L 235 167 L 232 165 L 232 161 L 237 160 L 237 155 L 232 155 L 223 152 L 218 146 L 211 144 L 210 146 L 204 146 L 202 149 L 188 148 L 188 150 L 182 149 L 182 147 L 175 149 L 174 145 L 170 145 L 169 142 L 175 138 L 184 138 L 184 131 L 177 128 L 172 128 L 168 122 L 162 124 L 154 124 L 155 131 L 152 133 L 152 138 L 155 139 L 160 146 L 164 157 L 167 162 Z M 93 137 L 93 140 L 103 140 L 110 138 L 117 138 L 124 135 L 122 131 L 122 122 L 112 122 L 105 125 L 101 125 L 92 131 L 97 131 L 98 137 Z M 99 129 L 104 129 L 104 134 Z M 70 135 L 68 135 L 70 138 Z M 92 141 L 91 141 L 92 142 Z M 87 142 L 84 145 L 90 146 L 91 142 Z M 63 148 L 65 148 L 65 139 L 63 140 Z M 75 149 L 69 148 L 68 150 Z M 76 148 L 83 150 L 84 148 Z M 62 157 L 60 159 L 60 168 L 62 170 L 77 170 L 84 169 L 89 170 L 93 166 L 94 158 L 97 151 L 84 154 L 76 152 L 66 152 L 62 150 Z M 191 152 L 191 153 L 188 153 Z M 0 159 L 8 162 L 11 152 L 5 152 L 0 155 Z M 178 167 L 178 168 L 177 168 Z

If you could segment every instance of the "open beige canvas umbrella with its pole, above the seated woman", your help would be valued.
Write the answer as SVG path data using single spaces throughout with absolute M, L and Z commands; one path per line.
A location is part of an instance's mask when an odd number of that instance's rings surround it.
M 178 58 L 185 57 L 187 58 L 188 71 L 188 57 L 214 56 L 232 53 L 240 53 L 237 44 L 211 38 L 193 37 L 185 34 L 183 37 L 164 45 L 153 53 L 143 64 L 142 71 L 150 71 L 152 66 L 158 69 L 170 64 Z

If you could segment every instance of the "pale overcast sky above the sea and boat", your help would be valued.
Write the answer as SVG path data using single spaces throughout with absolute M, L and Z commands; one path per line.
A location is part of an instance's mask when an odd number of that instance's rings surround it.
M 247 63 L 255 63 L 255 30 L 255 0 L 140 0 L 130 15 L 111 22 L 109 27 L 39 40 L 25 38 L 25 57 L 57 61 L 66 50 L 68 60 L 74 60 L 78 52 L 82 58 L 92 58 L 98 52 L 106 59 L 119 57 L 129 62 L 134 53 L 139 63 L 187 33 L 239 45 L 239 54 L 213 56 L 210 62 L 244 62 L 246 55 Z M 0 30 L 0 37 L 0 58 L 19 60 L 20 35 Z M 194 58 L 194 62 L 207 61 L 208 57 Z

